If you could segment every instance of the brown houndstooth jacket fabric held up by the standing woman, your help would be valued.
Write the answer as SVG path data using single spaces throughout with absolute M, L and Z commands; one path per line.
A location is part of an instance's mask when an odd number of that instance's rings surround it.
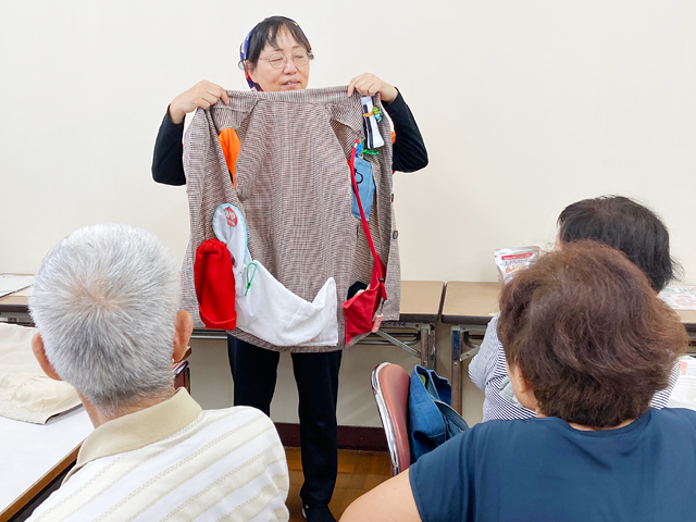
M 228 202 L 241 209 L 249 250 L 290 291 L 311 301 L 328 277 L 336 281 L 337 346 L 278 347 L 239 328 L 232 335 L 275 351 L 315 352 L 343 349 L 341 303 L 356 281 L 370 283 L 373 260 L 360 220 L 350 212 L 351 182 L 347 158 L 363 130 L 360 96 L 347 87 L 290 92 L 227 91 L 229 104 L 198 109 L 184 144 L 184 170 L 191 235 L 182 270 L 183 302 L 202 327 L 194 287 L 196 249 L 215 237 L 212 217 Z M 382 104 L 375 99 L 382 110 Z M 384 112 L 384 111 L 383 111 Z M 387 265 L 385 321 L 399 319 L 401 273 L 391 207 L 389 124 L 378 124 L 386 145 L 368 156 L 376 186 L 370 231 Z M 233 128 L 241 149 L 236 189 L 217 135 Z M 394 236 L 393 236 L 394 235 Z M 351 341 L 351 345 L 361 337 Z

